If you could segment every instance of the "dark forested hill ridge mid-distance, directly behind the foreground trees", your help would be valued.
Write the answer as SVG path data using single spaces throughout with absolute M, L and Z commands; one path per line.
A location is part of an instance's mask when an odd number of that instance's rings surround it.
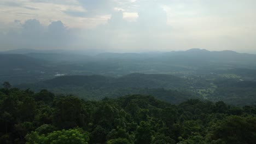
M 117 98 L 128 94 L 155 95 L 155 97 L 181 103 L 190 98 L 200 98 L 194 93 L 174 91 L 187 87 L 186 80 L 172 75 L 158 74 L 129 74 L 121 77 L 106 77 L 100 75 L 61 76 L 32 85 L 19 85 L 20 88 L 50 89 L 55 93 L 75 94 L 83 99 L 99 100 L 104 97 Z

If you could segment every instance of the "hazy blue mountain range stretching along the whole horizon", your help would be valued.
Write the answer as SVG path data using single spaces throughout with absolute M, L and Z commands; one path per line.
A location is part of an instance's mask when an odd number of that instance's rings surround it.
M 238 68 L 256 69 L 256 55 L 237 53 L 235 51 L 208 51 L 205 49 L 190 49 L 187 51 L 150 52 L 150 53 L 100 53 L 88 56 L 86 53 L 75 53 L 62 50 L 18 49 L 2 53 L 19 53 L 49 62 L 125 62 L 125 63 L 168 63 L 174 65 L 190 65 L 205 67 L 209 65 L 230 65 Z

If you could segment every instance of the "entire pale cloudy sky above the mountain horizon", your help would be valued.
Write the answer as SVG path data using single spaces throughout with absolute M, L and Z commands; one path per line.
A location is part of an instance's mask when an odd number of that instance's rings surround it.
M 255 0 L 1 0 L 0 50 L 256 53 Z

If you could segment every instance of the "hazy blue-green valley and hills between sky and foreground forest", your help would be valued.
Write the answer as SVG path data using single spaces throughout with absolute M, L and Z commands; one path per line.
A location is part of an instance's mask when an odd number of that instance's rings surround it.
M 191 49 L 89 56 L 16 50 L 2 53 L 0 60 L 0 82 L 36 92 L 49 89 L 74 94 L 84 100 L 143 94 L 172 104 L 189 98 L 241 106 L 256 101 L 256 55 L 234 51 Z

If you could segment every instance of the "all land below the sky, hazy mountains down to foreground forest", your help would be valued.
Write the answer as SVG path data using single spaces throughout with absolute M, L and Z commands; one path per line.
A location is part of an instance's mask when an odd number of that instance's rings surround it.
M 255 143 L 255 62 L 199 49 L 5 52 L 0 143 Z

